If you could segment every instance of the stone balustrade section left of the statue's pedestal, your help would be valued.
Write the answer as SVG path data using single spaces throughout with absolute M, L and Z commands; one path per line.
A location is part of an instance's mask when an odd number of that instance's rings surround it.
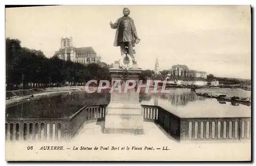
M 105 116 L 106 105 L 84 106 L 69 118 L 6 119 L 6 141 L 67 141 L 79 131 L 84 122 Z

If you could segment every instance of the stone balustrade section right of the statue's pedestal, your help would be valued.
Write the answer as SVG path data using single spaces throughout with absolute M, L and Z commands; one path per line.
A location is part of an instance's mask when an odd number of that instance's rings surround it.
M 249 140 L 251 118 L 182 118 L 160 106 L 142 105 L 144 121 L 159 124 L 178 141 Z

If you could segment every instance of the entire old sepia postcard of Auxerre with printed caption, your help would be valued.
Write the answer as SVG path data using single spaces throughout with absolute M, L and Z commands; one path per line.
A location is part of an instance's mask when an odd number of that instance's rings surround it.
M 250 6 L 6 9 L 7 161 L 251 160 Z

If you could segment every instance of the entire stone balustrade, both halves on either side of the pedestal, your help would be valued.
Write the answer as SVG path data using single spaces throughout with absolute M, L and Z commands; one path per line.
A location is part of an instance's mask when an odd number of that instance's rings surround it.
M 144 121 L 159 124 L 178 141 L 249 140 L 251 118 L 182 118 L 160 106 L 141 105 Z M 71 140 L 83 124 L 104 120 L 106 105 L 90 105 L 62 119 L 6 119 L 6 141 Z

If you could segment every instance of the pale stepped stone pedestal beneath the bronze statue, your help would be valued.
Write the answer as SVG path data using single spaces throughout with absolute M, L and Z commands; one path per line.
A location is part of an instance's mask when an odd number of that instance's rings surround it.
M 124 62 L 124 64 L 127 62 Z M 114 81 L 120 80 L 122 92 L 115 90 L 111 93 L 111 100 L 106 108 L 104 133 L 132 133 L 143 134 L 142 107 L 139 103 L 139 93 L 136 88 L 129 89 L 124 93 L 125 80 L 136 80 L 138 85 L 141 69 L 137 64 L 124 72 L 119 67 L 119 61 L 115 61 L 110 69 L 112 86 Z

